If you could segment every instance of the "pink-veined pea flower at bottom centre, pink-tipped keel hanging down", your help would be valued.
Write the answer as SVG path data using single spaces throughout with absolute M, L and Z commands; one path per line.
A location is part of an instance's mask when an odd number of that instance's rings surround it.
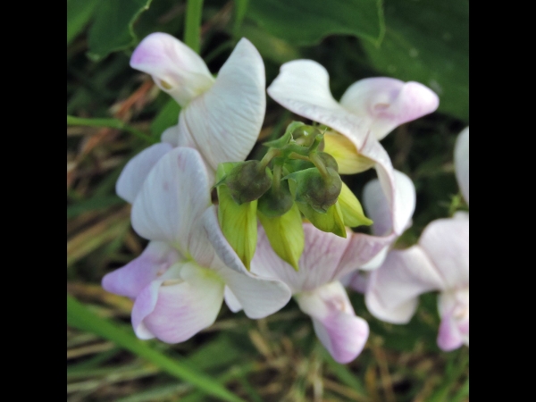
M 405 197 L 407 223 L 415 208 L 415 187 L 403 173 L 395 172 L 395 176 Z M 312 317 L 322 345 L 337 362 L 348 363 L 363 350 L 369 328 L 364 319 L 356 316 L 339 280 L 358 267 L 373 264 L 398 235 L 389 228 L 381 236 L 347 230 L 345 239 L 318 230 L 308 222 L 303 228 L 306 241 L 298 271 L 275 254 L 264 229 L 259 227 L 251 272 L 287 283 L 300 309 Z M 226 301 L 233 311 L 241 308 L 232 291 L 226 294 Z

